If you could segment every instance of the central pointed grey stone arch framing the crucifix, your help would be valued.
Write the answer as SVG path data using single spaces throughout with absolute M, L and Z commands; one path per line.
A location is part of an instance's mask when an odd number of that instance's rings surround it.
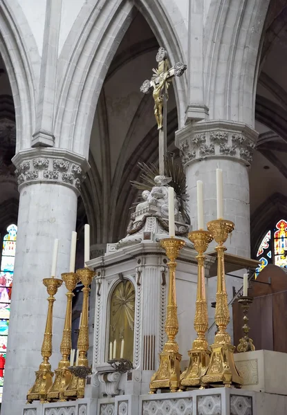
M 100 0 L 96 6 L 88 2 L 76 19 L 59 57 L 61 81 L 57 88 L 56 146 L 88 155 L 91 127 L 102 84 L 118 44 L 131 23 L 135 7 L 154 30 L 160 44 L 167 48 L 171 63 L 185 60 L 169 16 L 160 1 Z M 174 0 L 172 12 L 173 20 L 178 20 L 180 13 Z M 181 24 L 183 39 L 187 39 L 183 19 Z M 73 53 L 70 55 L 68 50 L 71 49 Z M 185 116 L 185 82 L 185 77 L 176 79 L 179 122 L 183 122 Z

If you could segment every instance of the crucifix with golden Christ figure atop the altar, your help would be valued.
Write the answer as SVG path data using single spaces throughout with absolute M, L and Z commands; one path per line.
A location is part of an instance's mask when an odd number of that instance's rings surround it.
M 185 72 L 187 66 L 178 62 L 172 68 L 169 68 L 167 60 L 167 51 L 164 48 L 159 48 L 156 55 L 156 62 L 158 68 L 153 69 L 154 75 L 151 80 L 145 80 L 140 91 L 149 93 L 151 88 L 154 89 L 152 95 L 154 98 L 154 116 L 158 123 L 158 156 L 160 176 L 165 176 L 165 157 L 167 155 L 167 89 L 172 78 L 181 76 Z

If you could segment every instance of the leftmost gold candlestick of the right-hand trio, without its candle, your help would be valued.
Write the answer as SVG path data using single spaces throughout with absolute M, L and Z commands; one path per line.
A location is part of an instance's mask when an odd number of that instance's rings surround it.
M 152 376 L 149 384 L 150 394 L 157 389 L 170 389 L 171 392 L 178 391 L 180 377 L 181 355 L 178 353 L 176 334 L 178 333 L 178 317 L 176 305 L 176 258 L 179 251 L 185 245 L 182 239 L 166 238 L 160 241 L 165 249 L 169 262 L 169 293 L 167 301 L 167 320 L 165 322 L 165 333 L 167 342 L 160 353 L 160 366 Z

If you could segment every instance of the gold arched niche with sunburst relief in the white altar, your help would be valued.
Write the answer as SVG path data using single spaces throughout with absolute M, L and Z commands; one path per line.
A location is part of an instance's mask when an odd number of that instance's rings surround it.
M 135 299 L 135 288 L 128 279 L 115 286 L 110 303 L 109 359 L 133 361 Z

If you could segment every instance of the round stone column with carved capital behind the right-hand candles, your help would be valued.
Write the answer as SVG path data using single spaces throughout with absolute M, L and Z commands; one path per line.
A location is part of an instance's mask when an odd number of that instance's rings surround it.
M 228 252 L 250 257 L 250 205 L 248 167 L 257 133 L 247 124 L 212 120 L 196 122 L 176 133 L 176 144 L 185 166 L 189 214 L 193 229 L 197 229 L 196 181 L 204 183 L 204 219 L 216 219 L 216 168 L 223 169 L 224 218 L 235 223 L 235 230 L 226 241 Z M 241 279 L 226 278 L 228 299 L 232 299 L 232 286 L 240 288 Z M 214 321 L 216 278 L 208 282 L 210 324 Z M 232 317 L 232 315 L 231 315 Z M 229 325 L 232 334 L 232 321 Z M 213 340 L 214 330 L 209 340 Z

